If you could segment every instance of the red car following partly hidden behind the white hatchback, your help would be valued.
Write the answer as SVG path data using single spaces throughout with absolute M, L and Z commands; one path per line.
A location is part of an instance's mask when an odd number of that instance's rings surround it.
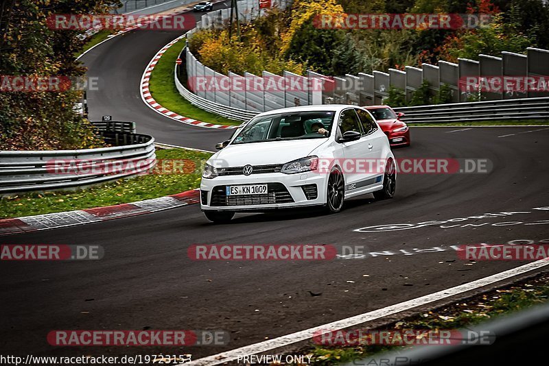
M 389 138 L 391 147 L 410 146 L 410 128 L 406 123 L 400 121 L 404 117 L 404 113 L 395 113 L 393 108 L 389 106 L 366 106 L 373 118 L 382 127 L 383 132 Z

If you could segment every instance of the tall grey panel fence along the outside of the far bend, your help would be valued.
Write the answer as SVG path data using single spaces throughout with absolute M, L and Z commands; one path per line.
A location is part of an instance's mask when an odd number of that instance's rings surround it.
M 257 0 L 238 3 L 240 19 L 249 21 L 261 16 Z M 285 5 L 285 2 L 280 4 L 281 7 Z M 230 9 L 202 15 L 196 28 L 187 32 L 187 39 L 199 29 L 226 26 L 229 16 Z M 215 106 L 209 106 L 209 110 L 217 110 L 215 113 L 222 115 L 234 114 L 235 110 L 264 112 L 323 103 L 372 106 L 384 104 L 391 88 L 400 90 L 404 99 L 410 101 L 414 92 L 425 86 L 430 97 L 440 99 L 444 93 L 447 103 L 549 97 L 549 84 L 543 90 L 517 88 L 517 80 L 530 81 L 535 86 L 549 82 L 549 51 L 533 47 L 528 47 L 525 55 L 511 52 L 502 52 L 498 57 L 480 54 L 478 61 L 460 58 L 458 63 L 440 61 L 438 65 L 423 64 L 421 68 L 406 66 L 404 70 L 389 69 L 388 73 L 373 71 L 371 74 L 342 76 L 327 76 L 312 71 L 305 76 L 288 71 L 284 71 L 283 75 L 268 71 L 262 71 L 261 75 L 223 75 L 198 61 L 189 47 L 183 49 L 180 58 L 183 64 L 179 67 L 185 68 L 185 77 L 179 80 L 179 84 L 185 84 L 187 89 L 183 97 L 194 99 L 189 101 L 197 106 L 197 101 L 202 99 L 215 103 Z M 176 71 L 176 75 L 183 73 Z M 511 84 L 505 84 L 505 80 L 511 80 Z M 487 86 L 499 82 L 500 88 L 486 88 L 483 82 Z

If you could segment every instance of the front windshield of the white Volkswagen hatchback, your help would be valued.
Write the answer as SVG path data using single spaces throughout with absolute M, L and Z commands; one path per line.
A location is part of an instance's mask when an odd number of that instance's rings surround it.
M 334 111 L 292 112 L 256 117 L 233 140 L 233 144 L 264 141 L 327 138 L 334 121 Z

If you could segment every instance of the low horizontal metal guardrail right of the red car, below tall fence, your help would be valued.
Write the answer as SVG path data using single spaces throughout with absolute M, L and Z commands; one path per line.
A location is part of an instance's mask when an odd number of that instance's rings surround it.
M 435 104 L 394 109 L 406 114 L 402 121 L 412 123 L 524 121 L 549 119 L 549 97 Z

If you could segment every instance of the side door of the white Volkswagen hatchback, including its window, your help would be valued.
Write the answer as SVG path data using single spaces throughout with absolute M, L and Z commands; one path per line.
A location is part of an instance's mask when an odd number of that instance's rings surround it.
M 345 196 L 353 195 L 355 192 L 361 191 L 363 182 L 361 182 L 363 174 L 357 173 L 357 162 L 364 160 L 368 155 L 368 147 L 366 147 L 366 138 L 362 130 L 362 124 L 356 114 L 354 108 L 342 110 L 338 123 L 338 136 L 342 136 L 345 132 L 355 131 L 360 132 L 360 139 L 349 142 L 340 142 L 343 152 L 343 159 L 340 163 L 343 175 L 345 177 Z

